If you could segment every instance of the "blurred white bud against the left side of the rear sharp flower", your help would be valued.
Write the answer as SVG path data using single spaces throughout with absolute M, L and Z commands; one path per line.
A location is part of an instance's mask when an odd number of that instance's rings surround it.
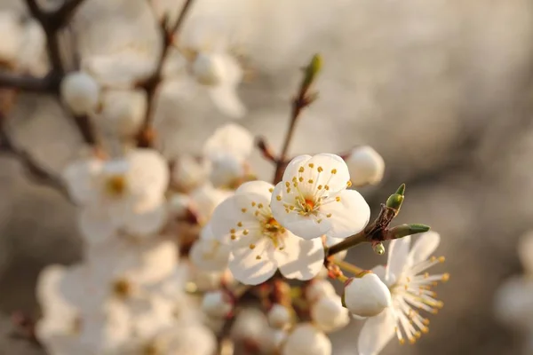
M 200 237 L 190 250 L 189 258 L 195 266 L 206 272 L 222 272 L 227 268 L 230 248 L 211 231 L 211 225 L 203 227 Z

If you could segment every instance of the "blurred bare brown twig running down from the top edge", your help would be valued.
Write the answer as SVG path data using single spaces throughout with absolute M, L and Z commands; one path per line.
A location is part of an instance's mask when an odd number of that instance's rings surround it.
M 155 106 L 155 93 L 159 84 L 162 81 L 163 65 L 170 51 L 174 38 L 182 26 L 188 11 L 193 4 L 193 0 L 186 0 L 179 12 L 178 20 L 169 27 L 168 17 L 163 16 L 163 19 L 159 23 L 159 33 L 163 41 L 161 52 L 159 53 L 159 59 L 155 67 L 154 73 L 150 75 L 145 81 L 139 83 L 139 88 L 143 89 L 147 93 L 147 109 L 145 113 L 145 119 L 139 129 L 137 135 L 137 145 L 140 147 L 149 147 L 154 145 L 154 131 L 152 130 L 152 122 L 154 119 L 154 106 Z

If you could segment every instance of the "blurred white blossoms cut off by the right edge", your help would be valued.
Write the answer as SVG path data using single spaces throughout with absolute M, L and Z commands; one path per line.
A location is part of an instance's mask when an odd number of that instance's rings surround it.
M 533 351 L 533 234 L 526 233 L 518 244 L 518 256 L 524 273 L 500 286 L 495 297 L 497 318 L 520 329 L 526 336 L 524 354 Z

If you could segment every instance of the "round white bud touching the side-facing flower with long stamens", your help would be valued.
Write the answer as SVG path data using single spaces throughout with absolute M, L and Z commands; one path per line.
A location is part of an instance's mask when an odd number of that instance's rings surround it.
M 391 304 L 391 293 L 375 273 L 346 281 L 343 300 L 346 308 L 359 317 L 373 317 Z

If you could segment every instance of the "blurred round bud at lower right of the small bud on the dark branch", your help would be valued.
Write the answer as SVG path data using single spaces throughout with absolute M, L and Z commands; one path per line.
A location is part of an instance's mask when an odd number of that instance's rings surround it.
M 147 111 L 147 94 L 142 90 L 106 90 L 100 100 L 99 125 L 107 133 L 132 137 Z

